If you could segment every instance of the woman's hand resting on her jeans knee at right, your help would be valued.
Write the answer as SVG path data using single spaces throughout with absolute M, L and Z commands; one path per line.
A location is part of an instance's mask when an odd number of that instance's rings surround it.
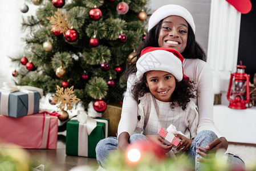
M 218 149 L 224 149 L 227 150 L 227 140 L 225 139 L 225 137 L 220 137 L 217 138 L 215 140 L 213 140 L 212 143 L 206 145 L 205 148 L 202 148 L 201 146 L 198 146 L 198 150 L 196 150 L 196 153 L 200 154 L 200 156 L 204 157 L 204 158 L 209 158 L 211 157 L 213 154 L 215 155 L 216 151 Z M 204 161 L 204 158 L 197 158 L 197 161 Z

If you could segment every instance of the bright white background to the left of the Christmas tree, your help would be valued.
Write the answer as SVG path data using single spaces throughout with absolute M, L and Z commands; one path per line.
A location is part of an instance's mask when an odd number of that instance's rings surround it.
M 29 6 L 27 13 L 22 13 L 19 8 L 25 1 L 0 0 L 0 87 L 3 82 L 11 82 L 12 72 L 17 66 L 11 63 L 8 56 L 22 54 L 24 42 L 21 38 L 26 33 L 21 31 L 22 16 L 34 15 L 35 5 L 26 3 Z

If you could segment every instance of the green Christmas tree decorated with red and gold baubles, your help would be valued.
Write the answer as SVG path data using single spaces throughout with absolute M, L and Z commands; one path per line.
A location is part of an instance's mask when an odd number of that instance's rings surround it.
M 31 0 L 36 16 L 23 18 L 26 48 L 11 57 L 20 86 L 55 93 L 74 86 L 84 108 L 123 100 L 120 78 L 145 36 L 147 0 Z M 26 4 L 21 11 L 26 13 Z M 103 108 L 96 108 L 102 112 Z

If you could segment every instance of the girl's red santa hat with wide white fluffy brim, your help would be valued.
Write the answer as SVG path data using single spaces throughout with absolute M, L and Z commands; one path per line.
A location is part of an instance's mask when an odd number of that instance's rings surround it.
M 183 56 L 180 52 L 168 47 L 146 47 L 141 51 L 140 58 L 137 60 L 136 76 L 139 80 L 147 71 L 166 71 L 172 74 L 178 82 L 188 76 L 183 73 Z

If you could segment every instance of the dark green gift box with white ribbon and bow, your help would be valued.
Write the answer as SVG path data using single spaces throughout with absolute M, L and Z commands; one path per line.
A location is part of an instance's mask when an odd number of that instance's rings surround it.
M 66 154 L 95 158 L 97 143 L 108 137 L 109 120 L 86 115 L 82 121 L 79 116 L 67 122 Z

